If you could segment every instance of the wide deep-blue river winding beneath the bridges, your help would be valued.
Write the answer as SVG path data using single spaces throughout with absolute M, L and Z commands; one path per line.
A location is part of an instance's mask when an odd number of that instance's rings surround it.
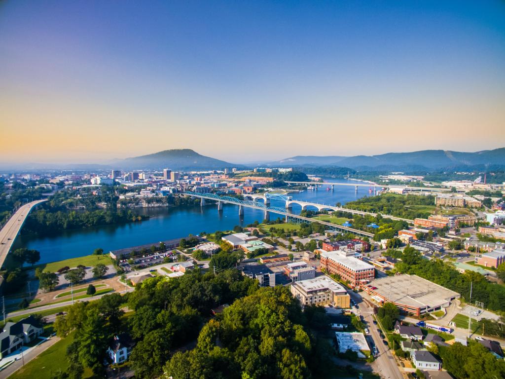
M 348 182 L 345 179 L 325 178 L 325 181 Z M 326 205 L 342 205 L 369 195 L 368 187 L 335 186 L 327 191 L 321 186 L 318 191 L 304 191 L 290 194 L 293 199 Z M 271 201 L 271 206 L 284 208 L 284 203 Z M 224 204 L 223 211 L 218 212 L 215 204 L 204 207 L 185 206 L 169 208 L 141 208 L 135 211 L 148 214 L 145 221 L 120 225 L 106 225 L 87 229 L 62 230 L 51 235 L 19 235 L 13 249 L 25 247 L 40 251 L 39 263 L 60 261 L 93 253 L 96 248 L 105 252 L 130 246 L 157 243 L 162 240 L 182 238 L 188 234 L 199 234 L 202 231 L 230 230 L 235 225 L 247 225 L 258 220 L 263 221 L 264 212 L 244 207 L 243 218 L 238 216 L 238 207 Z M 300 207 L 293 205 L 293 213 L 299 213 Z M 270 219 L 278 216 L 270 214 Z

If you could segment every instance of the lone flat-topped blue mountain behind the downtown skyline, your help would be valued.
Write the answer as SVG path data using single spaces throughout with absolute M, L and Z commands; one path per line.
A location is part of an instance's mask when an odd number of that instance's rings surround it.
M 116 162 L 115 166 L 122 169 L 170 168 L 172 170 L 222 170 L 226 167 L 242 167 L 200 155 L 191 149 L 164 150 L 154 154 L 127 158 Z

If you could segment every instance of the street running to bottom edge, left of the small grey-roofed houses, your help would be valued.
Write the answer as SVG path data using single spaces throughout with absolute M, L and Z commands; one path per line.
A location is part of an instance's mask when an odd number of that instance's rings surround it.
M 403 375 L 396 364 L 393 354 L 388 346 L 382 343 L 382 339 L 377 331 L 377 325 L 373 324 L 373 309 L 363 301 L 361 295 L 349 291 L 349 295 L 356 304 L 359 305 L 358 315 L 362 315 L 366 321 L 366 327 L 370 330 L 370 336 L 374 340 L 377 347 L 378 354 L 375 356 L 375 361 L 372 363 L 374 371 L 381 375 L 383 378 L 389 379 L 403 379 Z

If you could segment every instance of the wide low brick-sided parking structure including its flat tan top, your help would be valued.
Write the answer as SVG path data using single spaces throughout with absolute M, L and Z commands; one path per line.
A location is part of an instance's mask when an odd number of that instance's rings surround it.
M 460 294 L 417 275 L 394 275 L 375 279 L 361 288 L 380 305 L 391 302 L 401 311 L 416 316 L 449 306 Z

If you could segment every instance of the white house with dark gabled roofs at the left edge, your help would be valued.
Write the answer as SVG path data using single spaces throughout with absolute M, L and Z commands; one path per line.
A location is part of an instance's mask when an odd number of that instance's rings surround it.
M 18 322 L 7 322 L 0 333 L 0 359 L 32 342 L 42 331 L 42 324 L 33 315 Z

